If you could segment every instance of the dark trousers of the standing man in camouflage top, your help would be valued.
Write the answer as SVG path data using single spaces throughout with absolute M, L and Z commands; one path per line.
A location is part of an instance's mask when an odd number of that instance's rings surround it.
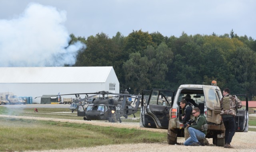
M 225 144 L 230 144 L 235 132 L 236 123 L 234 117 L 222 117 L 223 124 L 225 126 Z

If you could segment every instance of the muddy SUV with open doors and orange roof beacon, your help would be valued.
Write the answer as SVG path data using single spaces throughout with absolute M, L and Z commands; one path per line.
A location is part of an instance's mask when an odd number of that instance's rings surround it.
M 144 95 L 145 94 L 145 95 Z M 182 97 L 189 94 L 192 99 L 196 100 L 201 113 L 204 113 L 208 122 L 208 130 L 206 138 L 213 138 L 213 144 L 216 146 L 224 146 L 225 144 L 225 127 L 220 116 L 220 99 L 222 92 L 216 81 L 212 82 L 212 86 L 208 85 L 181 85 L 174 97 L 174 91 L 152 89 L 143 92 L 144 96 L 148 96 L 146 105 L 141 109 L 140 127 L 168 129 L 168 144 L 176 144 L 177 137 L 184 137 L 183 122 L 181 119 L 180 101 Z M 248 131 L 248 97 L 246 94 L 236 95 L 238 99 L 246 100 L 246 107 L 238 109 L 235 117 L 236 132 Z M 166 105 L 161 105 L 159 101 L 166 100 Z M 171 100 L 168 100 L 168 98 Z

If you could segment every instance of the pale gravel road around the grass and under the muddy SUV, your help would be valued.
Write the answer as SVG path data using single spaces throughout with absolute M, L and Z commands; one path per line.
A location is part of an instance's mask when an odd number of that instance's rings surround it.
M 70 123 L 86 123 L 92 125 L 100 126 L 112 126 L 112 127 L 126 127 L 126 128 L 136 128 L 141 130 L 164 132 L 167 134 L 167 130 L 164 129 L 147 129 L 140 128 L 139 123 L 108 123 L 102 121 L 84 121 L 84 120 L 71 120 L 71 119 L 53 119 L 53 118 L 42 118 L 42 117 L 24 117 L 24 116 L 11 116 L 11 115 L 0 115 L 0 117 L 10 117 L 10 118 L 23 118 L 23 119 L 39 119 L 39 120 L 52 120 Z M 254 137 L 256 132 L 248 131 L 248 133 L 236 133 L 233 137 L 231 145 L 234 149 L 228 149 L 218 146 L 183 146 L 183 145 L 169 145 L 166 142 L 163 143 L 150 143 L 150 144 L 118 144 L 118 145 L 107 145 L 107 146 L 96 146 L 96 147 L 84 147 L 76 149 L 62 149 L 62 150 L 50 150 L 50 152 L 106 152 L 106 151 L 118 151 L 118 152 L 170 152 L 172 150 L 178 150 L 180 152 L 197 152 L 197 151 L 207 151 L 207 152 L 255 152 L 256 144 Z M 208 139 L 209 143 L 212 143 L 212 139 Z M 183 143 L 184 138 L 178 138 L 178 143 Z M 36 151 L 28 151 L 36 152 Z M 37 151 L 38 152 L 38 151 Z M 49 152 L 40 151 L 40 152 Z

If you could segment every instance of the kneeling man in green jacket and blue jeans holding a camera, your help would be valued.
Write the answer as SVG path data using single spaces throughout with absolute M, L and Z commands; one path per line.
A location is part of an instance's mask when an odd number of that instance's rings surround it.
M 198 140 L 202 140 L 205 138 L 207 131 L 207 122 L 204 115 L 200 114 L 199 108 L 194 108 L 192 110 L 192 115 L 194 115 L 194 123 L 193 125 L 186 125 L 190 137 L 184 142 L 184 145 L 201 146 L 201 143 Z

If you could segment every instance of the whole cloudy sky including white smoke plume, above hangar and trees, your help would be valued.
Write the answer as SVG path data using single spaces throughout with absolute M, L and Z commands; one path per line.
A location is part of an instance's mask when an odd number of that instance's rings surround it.
M 133 30 L 256 39 L 256 0 L 0 0 L 0 67 L 74 64 L 89 37 Z

